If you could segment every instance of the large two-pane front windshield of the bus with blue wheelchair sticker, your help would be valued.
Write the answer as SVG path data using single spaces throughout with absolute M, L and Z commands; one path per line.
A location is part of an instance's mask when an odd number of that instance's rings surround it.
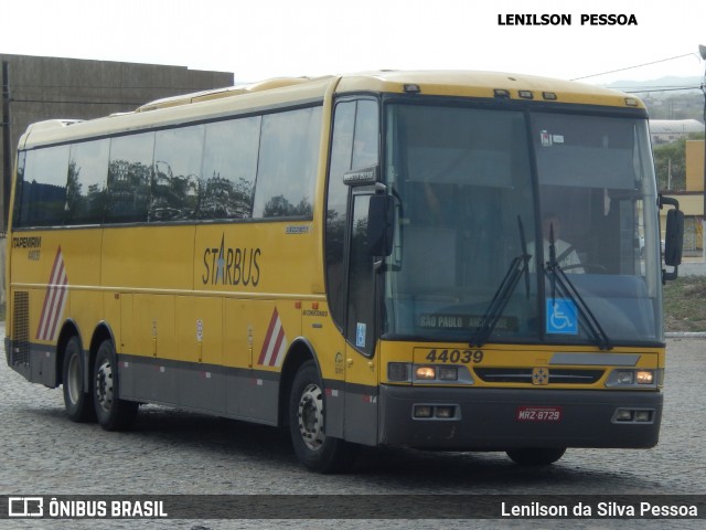
M 387 337 L 663 339 L 645 119 L 391 103 L 385 127 Z

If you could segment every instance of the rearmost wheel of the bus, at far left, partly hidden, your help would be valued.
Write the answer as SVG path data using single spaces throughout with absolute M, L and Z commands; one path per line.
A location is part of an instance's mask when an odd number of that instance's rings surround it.
M 95 422 L 93 394 L 84 389 L 86 367 L 84 356 L 81 352 L 81 341 L 76 336 L 68 339 L 66 343 L 62 370 L 66 414 L 73 422 Z

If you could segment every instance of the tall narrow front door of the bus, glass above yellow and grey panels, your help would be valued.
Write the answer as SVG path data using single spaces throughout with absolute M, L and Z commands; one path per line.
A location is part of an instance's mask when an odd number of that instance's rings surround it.
M 328 402 L 327 434 L 362 444 L 377 442 L 375 274 L 365 241 L 375 191 L 374 182 L 365 180 L 377 174 L 368 170 L 379 159 L 378 113 L 375 98 L 345 96 L 336 102 L 327 193 L 327 293 L 341 330 L 332 352 L 342 357 L 336 370 L 342 364 L 345 372 L 344 404 Z M 351 172 L 363 181 L 345 181 Z

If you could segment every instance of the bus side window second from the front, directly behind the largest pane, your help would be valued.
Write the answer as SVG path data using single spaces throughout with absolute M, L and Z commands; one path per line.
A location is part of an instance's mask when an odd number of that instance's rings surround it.
M 261 118 L 207 124 L 199 219 L 248 219 Z

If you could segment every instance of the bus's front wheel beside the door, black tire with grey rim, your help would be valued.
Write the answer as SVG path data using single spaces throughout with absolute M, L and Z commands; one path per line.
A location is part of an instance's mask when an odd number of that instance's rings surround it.
M 324 391 L 314 361 L 303 363 L 291 388 L 289 428 L 299 462 L 318 473 L 341 473 L 354 462 L 356 446 L 324 434 Z

